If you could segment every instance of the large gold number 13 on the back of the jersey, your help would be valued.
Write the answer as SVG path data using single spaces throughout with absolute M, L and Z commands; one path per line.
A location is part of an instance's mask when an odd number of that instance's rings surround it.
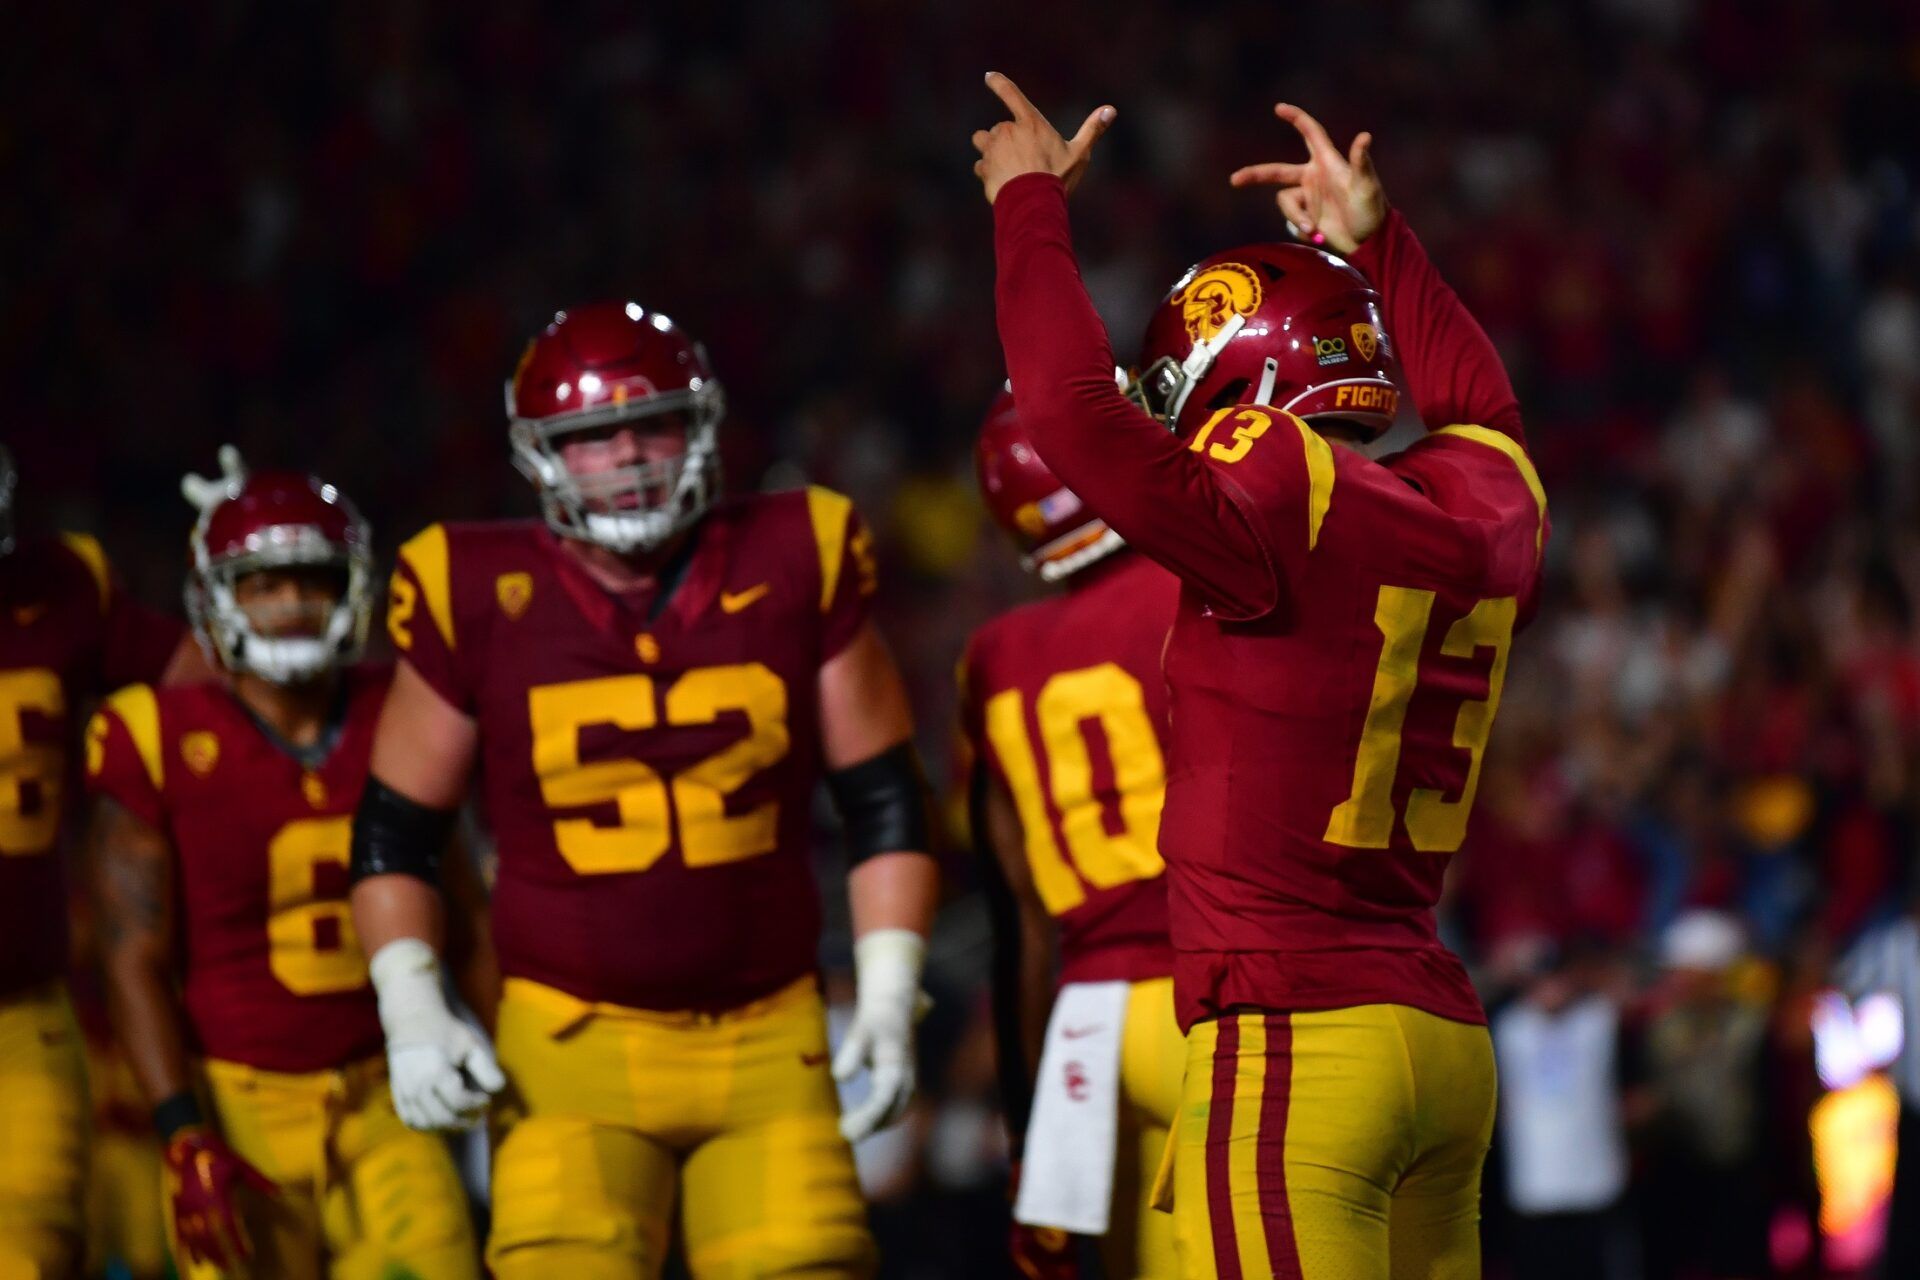
M 1421 647 L 1434 593 L 1413 587 L 1380 587 L 1373 626 L 1380 629 L 1380 664 L 1373 672 L 1373 699 L 1359 733 L 1354 762 L 1354 789 L 1327 819 L 1329 844 L 1348 848 L 1386 848 L 1394 837 L 1394 775 L 1400 773 L 1400 731 L 1407 702 L 1419 683 Z M 1480 601 L 1465 618 L 1448 628 L 1440 652 L 1471 658 L 1480 649 L 1494 651 L 1486 676 L 1486 699 L 1465 702 L 1453 720 L 1453 747 L 1469 756 L 1467 783 L 1457 800 L 1446 793 L 1417 787 L 1407 794 L 1407 839 L 1423 854 L 1452 854 L 1467 839 L 1467 814 L 1480 787 L 1480 760 L 1486 735 L 1500 710 L 1500 685 L 1507 677 L 1507 647 L 1513 643 L 1515 599 Z

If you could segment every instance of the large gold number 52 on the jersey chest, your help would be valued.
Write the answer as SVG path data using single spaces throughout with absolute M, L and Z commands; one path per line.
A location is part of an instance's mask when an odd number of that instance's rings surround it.
M 618 823 L 561 818 L 553 841 L 574 871 L 609 875 L 645 871 L 674 842 L 689 867 L 710 867 L 774 852 L 780 804 L 768 800 L 728 814 L 726 800 L 751 777 L 785 758 L 787 685 L 758 662 L 703 666 L 685 672 L 659 697 L 651 676 L 601 676 L 528 689 L 534 727 L 534 775 L 549 808 L 612 804 Z M 580 731 L 589 725 L 651 729 L 703 725 L 724 712 L 747 718 L 747 737 L 662 779 L 643 760 L 582 760 Z

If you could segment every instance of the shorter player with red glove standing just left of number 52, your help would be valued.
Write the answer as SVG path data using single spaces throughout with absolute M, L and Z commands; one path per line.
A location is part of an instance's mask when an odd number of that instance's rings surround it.
M 394 1113 L 346 900 L 392 674 L 359 662 L 367 526 L 332 486 L 230 453 L 188 491 L 188 614 L 227 677 L 129 685 L 86 729 L 108 1000 L 175 1257 L 196 1278 L 478 1276 L 445 1144 Z

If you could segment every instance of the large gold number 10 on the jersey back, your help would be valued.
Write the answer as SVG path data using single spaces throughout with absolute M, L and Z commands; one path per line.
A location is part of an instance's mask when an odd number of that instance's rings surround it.
M 987 739 L 1014 793 L 1033 889 L 1046 912 L 1062 915 L 1085 902 L 1081 881 L 1094 889 L 1114 889 L 1160 875 L 1165 869 L 1158 839 L 1167 775 L 1140 681 L 1114 662 L 1060 672 L 1041 685 L 1033 699 L 1033 718 L 1041 731 L 1039 750 L 1046 756 L 1054 812 L 1060 814 L 1060 835 L 1066 837 L 1073 865 L 1068 865 L 1054 839 L 1020 689 L 1002 689 L 987 699 Z M 1106 829 L 1100 796 L 1092 789 L 1089 725 L 1098 725 L 1114 762 L 1119 831 Z

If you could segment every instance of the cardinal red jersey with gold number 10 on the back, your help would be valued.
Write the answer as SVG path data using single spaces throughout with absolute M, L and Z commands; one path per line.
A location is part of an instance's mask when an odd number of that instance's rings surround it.
M 1156 979 L 1173 971 L 1160 651 L 1179 580 L 1133 553 L 1081 576 L 973 633 L 960 714 L 1060 921 L 1060 981 Z

